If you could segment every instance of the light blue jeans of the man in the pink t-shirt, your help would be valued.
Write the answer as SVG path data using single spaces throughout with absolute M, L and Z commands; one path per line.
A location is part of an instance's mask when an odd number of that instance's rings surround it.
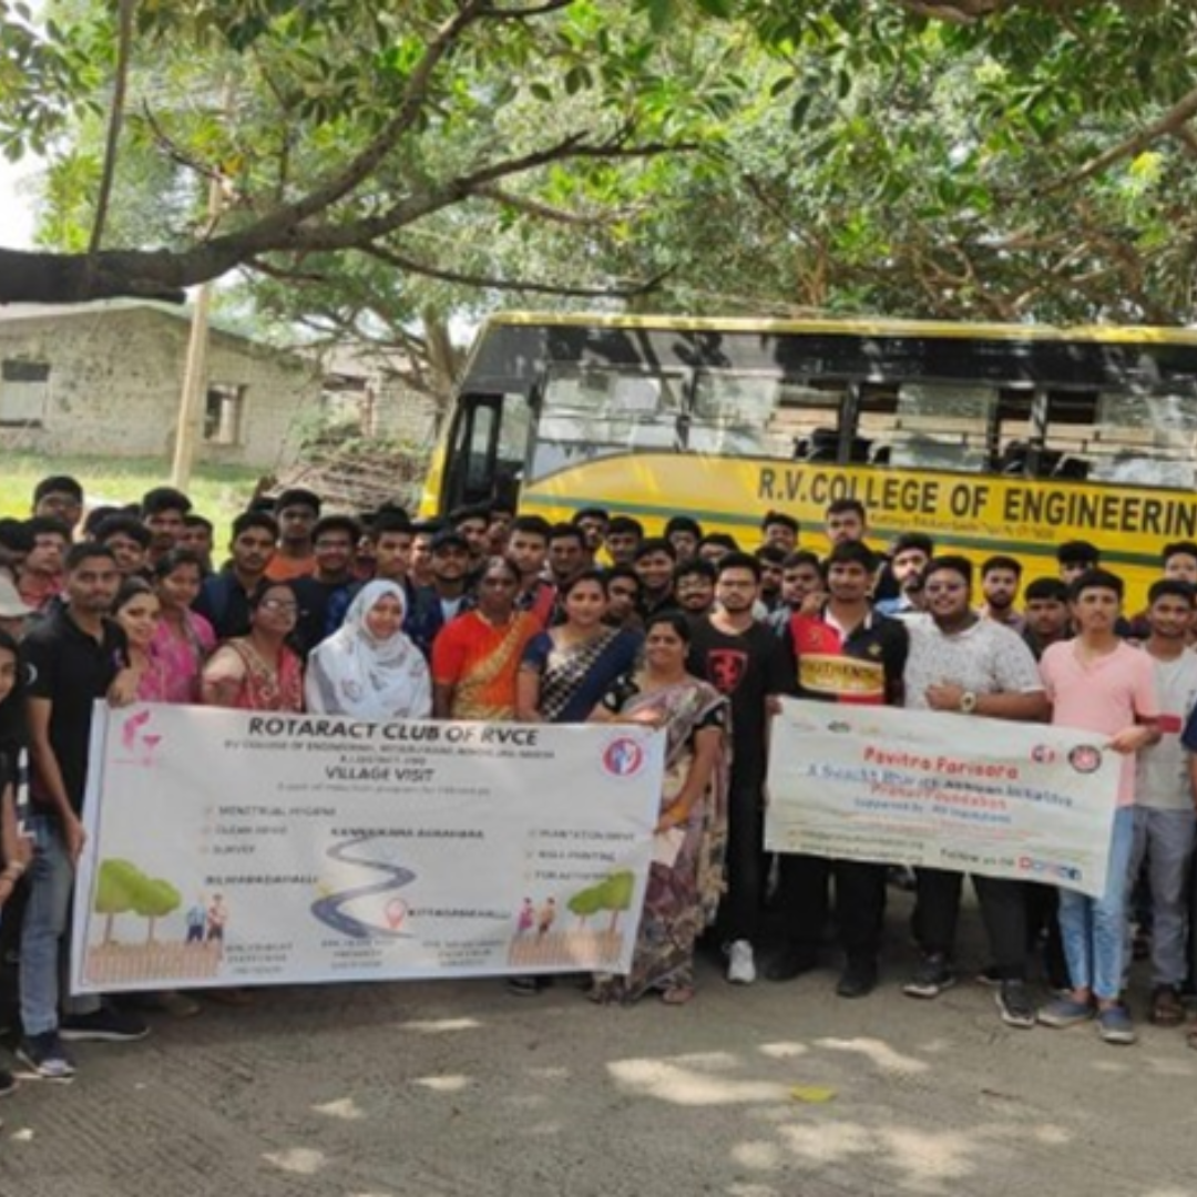
M 1119 807 L 1110 839 L 1106 892 L 1089 898 L 1071 889 L 1059 892 L 1059 932 L 1074 989 L 1090 990 L 1099 1002 L 1114 1002 L 1122 992 L 1126 955 L 1126 876 L 1135 841 L 1135 808 Z

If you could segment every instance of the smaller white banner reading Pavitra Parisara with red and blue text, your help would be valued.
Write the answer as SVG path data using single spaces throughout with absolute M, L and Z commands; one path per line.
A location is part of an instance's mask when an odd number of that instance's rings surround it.
M 1105 889 L 1122 758 L 1041 723 L 785 699 L 767 846 Z

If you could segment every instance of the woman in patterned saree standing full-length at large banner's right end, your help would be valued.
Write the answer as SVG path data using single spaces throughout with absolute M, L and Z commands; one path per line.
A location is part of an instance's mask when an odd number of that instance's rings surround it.
M 686 672 L 689 638 L 681 612 L 649 616 L 643 664 L 616 681 L 591 716 L 666 733 L 656 850 L 632 970 L 627 977 L 596 977 L 590 994 L 596 1002 L 634 1002 L 650 991 L 670 1005 L 688 1002 L 694 943 L 723 891 L 728 701 Z

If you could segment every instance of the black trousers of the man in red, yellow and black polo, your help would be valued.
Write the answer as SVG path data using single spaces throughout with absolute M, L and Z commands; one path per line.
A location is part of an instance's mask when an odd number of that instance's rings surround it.
M 814 956 L 827 925 L 828 882 L 836 879 L 836 922 L 849 960 L 875 962 L 886 913 L 886 865 L 830 861 L 800 853 L 782 857 L 779 906 L 790 947 Z

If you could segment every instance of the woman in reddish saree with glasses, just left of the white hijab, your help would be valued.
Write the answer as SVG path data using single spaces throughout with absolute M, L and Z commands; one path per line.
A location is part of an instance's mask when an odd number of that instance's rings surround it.
M 249 636 L 226 640 L 203 667 L 206 706 L 239 711 L 303 710 L 303 663 L 288 644 L 299 619 L 290 582 L 262 582 L 249 600 Z

